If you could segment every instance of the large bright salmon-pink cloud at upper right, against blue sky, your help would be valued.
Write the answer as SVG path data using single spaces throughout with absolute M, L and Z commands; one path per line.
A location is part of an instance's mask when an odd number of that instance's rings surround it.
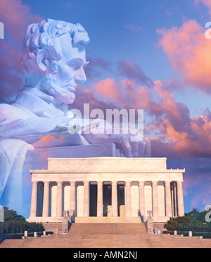
M 211 94 L 210 41 L 205 38 L 205 29 L 191 20 L 179 28 L 158 30 L 158 34 L 161 36 L 158 46 L 165 51 L 184 83 Z

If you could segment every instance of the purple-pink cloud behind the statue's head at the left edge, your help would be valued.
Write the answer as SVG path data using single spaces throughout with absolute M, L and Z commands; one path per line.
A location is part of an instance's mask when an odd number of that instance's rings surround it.
M 0 17 L 5 29 L 0 42 L 0 102 L 11 102 L 23 87 L 20 58 L 27 26 L 43 18 L 30 13 L 30 7 L 20 0 L 1 0 Z

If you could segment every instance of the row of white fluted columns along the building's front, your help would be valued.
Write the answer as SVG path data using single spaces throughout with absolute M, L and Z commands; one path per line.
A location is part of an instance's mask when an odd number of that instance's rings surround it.
M 70 210 L 76 209 L 75 183 L 70 182 Z M 117 211 L 117 182 L 112 184 L 112 216 L 118 216 Z M 97 182 L 97 216 L 103 216 L 103 181 Z M 153 216 L 159 216 L 158 210 L 158 182 L 152 182 Z M 56 217 L 62 216 L 63 182 L 57 182 Z M 165 182 L 165 210 L 166 216 L 172 216 L 171 184 Z M 177 182 L 177 210 L 178 216 L 184 216 L 184 200 L 182 182 Z M 144 182 L 139 182 L 139 211 L 145 216 Z M 37 182 L 32 182 L 31 217 L 37 216 Z M 44 182 L 43 217 L 49 216 L 49 182 Z M 89 216 L 89 182 L 84 182 L 84 217 Z M 125 182 L 125 216 L 132 216 L 131 182 Z

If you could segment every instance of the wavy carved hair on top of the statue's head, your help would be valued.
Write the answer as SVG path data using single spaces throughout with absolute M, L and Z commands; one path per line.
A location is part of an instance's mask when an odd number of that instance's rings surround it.
M 21 58 L 24 73 L 33 72 L 37 68 L 37 53 L 40 50 L 44 51 L 45 58 L 60 60 L 59 37 L 67 33 L 72 39 L 72 46 L 89 44 L 89 36 L 80 24 L 47 19 L 29 25 L 23 40 L 23 56 Z

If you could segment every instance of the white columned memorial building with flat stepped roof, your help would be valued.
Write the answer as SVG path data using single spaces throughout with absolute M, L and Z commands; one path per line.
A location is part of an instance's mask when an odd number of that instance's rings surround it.
M 49 158 L 48 170 L 30 170 L 30 222 L 76 217 L 141 217 L 155 222 L 184 216 L 184 169 L 167 169 L 167 158 Z

